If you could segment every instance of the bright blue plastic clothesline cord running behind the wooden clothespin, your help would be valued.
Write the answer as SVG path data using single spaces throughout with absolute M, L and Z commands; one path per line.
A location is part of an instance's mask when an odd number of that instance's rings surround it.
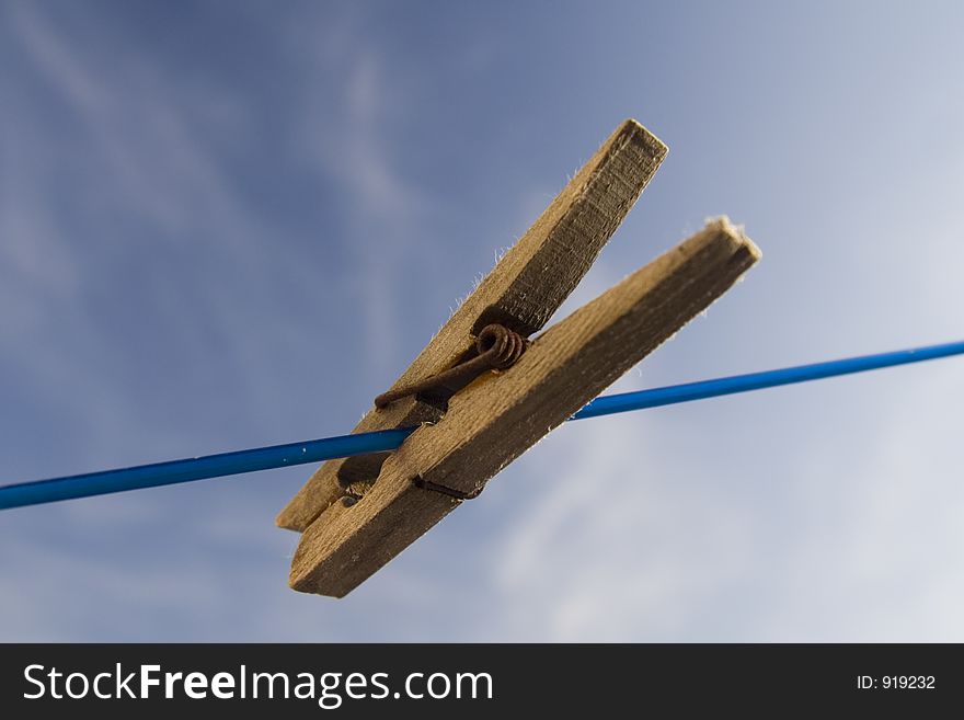
M 736 392 L 761 390 L 781 385 L 805 382 L 822 378 L 862 373 L 883 367 L 920 363 L 939 357 L 964 354 L 964 341 L 898 350 L 876 355 L 863 355 L 844 359 L 799 365 L 776 370 L 734 375 L 731 377 L 700 380 L 664 388 L 601 396 L 579 410 L 571 420 L 598 418 L 631 410 L 658 408 L 679 402 L 716 398 Z M 284 468 L 306 462 L 319 462 L 352 455 L 366 455 L 393 450 L 414 431 L 414 427 L 357 433 L 337 437 L 257 447 L 234 453 L 221 453 L 204 457 L 139 465 L 133 468 L 88 472 L 66 478 L 35 480 L 0 487 L 0 510 L 37 505 L 58 500 L 89 498 L 125 490 L 157 488 L 177 482 L 205 480 L 256 470 Z

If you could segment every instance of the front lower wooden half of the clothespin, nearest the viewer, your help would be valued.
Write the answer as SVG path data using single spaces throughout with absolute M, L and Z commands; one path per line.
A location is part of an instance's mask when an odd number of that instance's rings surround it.
M 341 597 L 459 501 L 415 478 L 471 492 L 564 422 L 726 292 L 759 250 L 726 218 L 627 277 L 536 339 L 512 368 L 451 398 L 416 430 L 354 506 L 340 503 L 301 536 L 289 582 Z M 632 452 L 632 448 L 627 448 Z

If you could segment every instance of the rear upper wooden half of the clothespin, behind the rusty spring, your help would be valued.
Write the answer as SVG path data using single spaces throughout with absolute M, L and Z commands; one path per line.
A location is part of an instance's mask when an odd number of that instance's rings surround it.
M 632 119 L 622 123 L 392 388 L 456 365 L 471 348 L 473 335 L 490 322 L 501 322 L 526 336 L 540 330 L 588 271 L 666 152 L 666 146 L 642 125 Z M 370 410 L 353 432 L 435 422 L 443 412 L 444 408 L 436 404 L 406 398 Z M 364 493 L 378 477 L 386 457 L 388 454 L 378 454 L 323 464 L 278 514 L 276 523 L 303 530 L 345 493 L 343 485 Z

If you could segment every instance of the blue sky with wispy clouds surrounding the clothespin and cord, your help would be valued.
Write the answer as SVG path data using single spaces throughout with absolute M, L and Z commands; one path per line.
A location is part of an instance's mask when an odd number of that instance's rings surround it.
M 0 2 L 0 480 L 347 432 L 630 116 L 669 156 L 561 315 L 709 216 L 764 260 L 616 389 L 960 339 L 962 28 Z M 308 467 L 8 511 L 0 639 L 962 641 L 962 390 L 944 361 L 563 427 L 343 601 L 286 586 Z

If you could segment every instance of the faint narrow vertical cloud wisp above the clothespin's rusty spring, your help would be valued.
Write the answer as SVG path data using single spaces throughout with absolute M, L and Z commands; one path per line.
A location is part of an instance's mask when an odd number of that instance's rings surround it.
M 402 178 L 390 152 L 399 141 L 400 88 L 414 80 L 388 66 L 365 33 L 353 27 L 348 20 L 329 27 L 321 42 L 302 50 L 301 60 L 317 80 L 297 141 L 317 171 L 346 193 L 345 240 L 354 249 L 347 307 L 360 312 L 362 357 L 374 375 L 387 377 L 398 365 L 399 297 L 411 288 L 412 270 L 421 264 L 426 240 L 420 221 L 433 202 Z M 332 47 L 343 44 L 351 49 L 333 61 Z

